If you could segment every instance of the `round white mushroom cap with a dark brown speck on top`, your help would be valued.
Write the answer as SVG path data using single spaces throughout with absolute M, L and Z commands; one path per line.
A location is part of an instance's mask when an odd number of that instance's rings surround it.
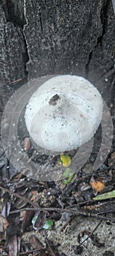
M 57 75 L 37 89 L 25 110 L 25 124 L 37 146 L 69 151 L 90 140 L 98 129 L 103 99 L 90 81 Z

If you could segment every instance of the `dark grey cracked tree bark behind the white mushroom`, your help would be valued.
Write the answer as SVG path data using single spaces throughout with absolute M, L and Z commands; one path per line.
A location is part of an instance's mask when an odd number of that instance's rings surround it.
M 115 61 L 111 0 L 1 0 L 0 20 L 2 84 L 75 74 L 108 99 Z

